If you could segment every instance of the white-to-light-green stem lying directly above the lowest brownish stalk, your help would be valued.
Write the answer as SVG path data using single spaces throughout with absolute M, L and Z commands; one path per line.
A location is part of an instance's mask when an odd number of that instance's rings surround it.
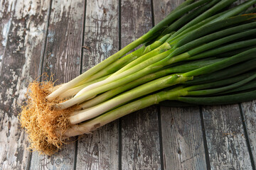
M 95 118 L 97 115 L 110 111 L 112 108 L 120 106 L 128 101 L 132 101 L 135 98 L 139 98 L 146 94 L 150 94 L 154 91 L 164 89 L 175 84 L 181 84 L 182 82 L 193 79 L 193 77 L 183 77 L 180 74 L 173 74 L 166 77 L 150 81 L 146 84 L 138 86 L 130 91 L 125 92 L 105 103 L 101 103 L 92 108 L 88 108 L 82 111 L 78 111 L 70 115 L 70 123 L 77 124 L 91 118 Z

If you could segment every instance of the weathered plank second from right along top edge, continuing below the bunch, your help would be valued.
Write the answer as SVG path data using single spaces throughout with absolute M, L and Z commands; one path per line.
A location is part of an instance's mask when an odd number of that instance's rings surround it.
M 121 1 L 122 47 L 152 27 L 151 1 Z M 121 118 L 122 169 L 160 169 L 159 121 L 155 106 Z

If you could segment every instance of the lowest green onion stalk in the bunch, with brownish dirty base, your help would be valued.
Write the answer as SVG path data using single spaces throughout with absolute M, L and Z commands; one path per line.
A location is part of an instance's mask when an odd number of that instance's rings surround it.
M 180 97 L 177 97 L 180 96 Z M 149 107 L 151 105 L 157 104 L 161 101 L 166 101 L 168 99 L 177 98 L 178 101 L 193 103 L 196 105 L 217 105 L 217 104 L 233 104 L 240 103 L 245 101 L 252 101 L 256 99 L 256 91 L 249 91 L 240 94 L 226 95 L 226 96 L 215 96 L 215 97 L 182 97 L 186 96 L 186 91 L 161 91 L 157 94 L 153 94 L 150 96 L 146 96 L 144 98 L 140 98 L 137 101 L 133 101 L 131 103 L 127 103 L 124 106 L 120 106 L 119 108 L 115 108 L 112 111 L 104 113 L 92 120 L 87 120 L 85 123 L 81 123 L 79 125 L 74 125 L 73 128 L 68 130 L 65 133 L 68 137 L 75 135 L 82 135 L 84 133 L 90 133 L 97 128 L 106 125 L 118 118 L 122 118 L 124 115 L 128 115 L 134 111 L 139 111 L 142 108 Z

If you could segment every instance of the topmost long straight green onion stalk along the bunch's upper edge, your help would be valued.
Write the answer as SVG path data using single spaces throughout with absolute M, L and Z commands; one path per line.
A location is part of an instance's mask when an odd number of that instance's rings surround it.
M 210 0 L 200 0 L 193 4 L 190 4 L 188 6 L 185 6 L 178 11 L 175 11 L 174 13 L 171 13 L 169 16 L 164 18 L 160 23 L 158 23 L 154 28 L 151 28 L 148 33 L 142 35 L 142 37 L 138 38 L 137 40 L 134 40 L 134 42 L 131 42 L 126 47 L 122 48 L 122 50 L 119 50 L 119 52 L 115 53 L 114 55 L 108 57 L 106 60 L 100 62 L 99 64 L 95 65 L 95 67 L 92 67 L 91 69 L 87 70 L 87 72 L 81 74 L 80 76 L 76 77 L 75 79 L 69 81 L 66 84 L 63 84 L 60 88 L 53 91 L 50 95 L 48 95 L 46 98 L 49 101 L 52 101 L 54 98 L 57 98 L 60 94 L 62 94 L 64 91 L 67 91 L 68 89 L 73 88 L 77 84 L 79 84 L 84 79 L 87 79 L 91 77 L 93 74 L 99 72 L 101 69 L 104 69 L 109 64 L 114 62 L 115 60 L 118 60 L 120 57 L 125 55 L 127 52 L 133 50 L 135 47 L 141 45 L 143 42 L 151 38 L 152 35 L 159 32 L 161 29 L 164 28 L 164 26 L 169 25 L 171 22 L 175 21 L 177 18 L 183 16 L 183 14 L 187 13 L 188 11 L 193 10 L 193 8 L 196 8 L 198 6 L 201 6 L 202 4 L 205 4 Z

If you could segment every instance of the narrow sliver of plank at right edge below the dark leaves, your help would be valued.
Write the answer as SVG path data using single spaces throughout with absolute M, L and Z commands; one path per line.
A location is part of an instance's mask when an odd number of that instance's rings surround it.
M 245 118 L 245 127 L 247 130 L 252 159 L 256 161 L 256 101 L 241 103 L 242 114 Z M 256 164 L 255 164 L 256 166 Z

